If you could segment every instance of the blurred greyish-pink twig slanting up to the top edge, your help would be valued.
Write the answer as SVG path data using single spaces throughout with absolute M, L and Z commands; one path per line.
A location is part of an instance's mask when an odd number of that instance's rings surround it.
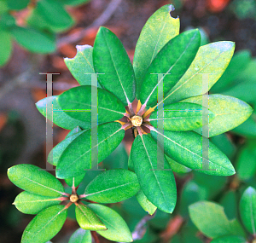
M 83 31 L 79 33 L 71 34 L 67 37 L 60 38 L 57 41 L 58 48 L 60 48 L 65 43 L 76 43 L 86 35 L 86 33 L 90 28 L 102 26 L 104 23 L 106 23 L 110 19 L 115 9 L 118 8 L 121 2 L 122 0 L 112 0 L 108 4 L 108 8 L 96 20 L 94 20 L 90 26 L 87 26 Z

